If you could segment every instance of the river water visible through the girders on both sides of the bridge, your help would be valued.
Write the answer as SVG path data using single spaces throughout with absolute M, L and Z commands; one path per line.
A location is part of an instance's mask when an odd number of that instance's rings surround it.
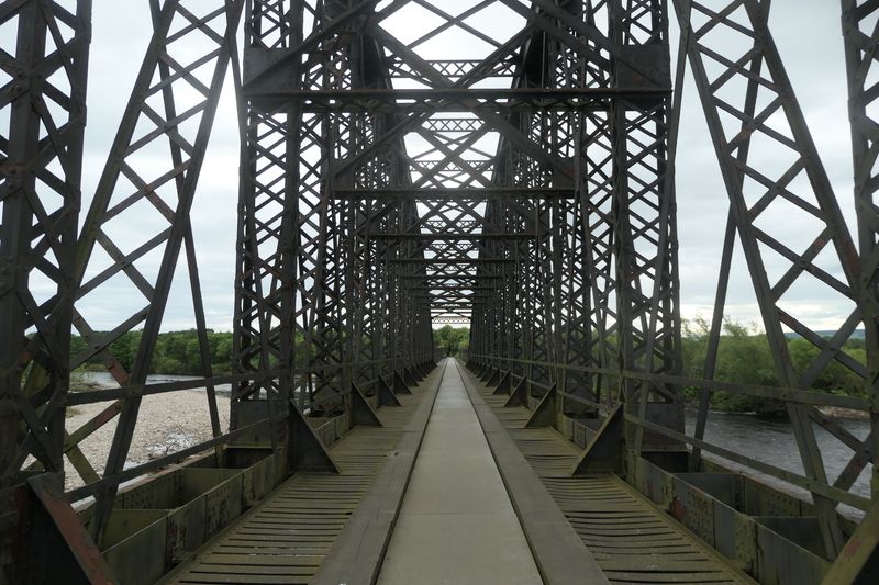
M 99 387 L 115 387 L 115 383 L 108 372 L 84 372 L 77 375 L 82 375 L 82 381 L 87 384 L 93 384 Z M 148 375 L 146 380 L 149 384 L 158 384 L 163 382 L 197 380 L 197 378 L 190 375 L 154 374 Z M 230 384 L 216 386 L 218 393 L 229 394 L 231 391 L 232 387 Z M 870 424 L 868 420 L 839 420 L 839 424 L 852 432 L 852 435 L 861 440 L 864 440 L 870 431 Z M 694 426 L 694 413 L 688 410 L 688 435 L 692 436 Z M 824 465 L 827 470 L 827 475 L 831 483 L 833 483 L 852 458 L 852 450 L 823 428 L 817 425 L 813 426 L 815 428 L 819 448 L 824 459 Z M 758 461 L 801 475 L 803 474 L 803 466 L 800 461 L 799 451 L 797 450 L 797 442 L 793 439 L 793 430 L 790 423 L 786 419 L 758 418 L 747 414 L 711 413 L 705 429 L 705 441 L 741 452 Z M 724 461 L 724 463 L 727 462 Z M 735 463 L 728 462 L 728 464 L 734 469 L 741 469 L 741 466 Z M 778 480 L 764 475 L 760 476 L 772 485 L 785 485 L 790 488 L 790 486 Z M 853 486 L 852 492 L 869 497 L 869 476 L 870 468 L 867 466 Z

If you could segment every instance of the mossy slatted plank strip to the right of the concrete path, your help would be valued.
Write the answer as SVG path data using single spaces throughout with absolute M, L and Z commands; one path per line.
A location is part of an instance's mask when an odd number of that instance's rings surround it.
M 491 407 L 611 583 L 755 583 L 615 475 L 572 477 L 580 451 L 460 369 Z

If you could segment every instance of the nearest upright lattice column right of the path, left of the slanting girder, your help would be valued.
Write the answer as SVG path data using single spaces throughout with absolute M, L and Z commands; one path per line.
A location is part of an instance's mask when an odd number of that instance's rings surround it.
M 625 2 L 611 15 L 612 37 L 631 55 L 668 61 L 668 22 L 660 2 Z M 661 55 L 661 57 L 659 57 Z M 631 75 L 617 63 L 614 83 Z M 663 75 L 657 83 L 670 86 Z M 665 77 L 665 78 L 663 78 Z M 652 373 L 679 373 L 682 367 L 675 190 L 668 180 L 670 99 L 646 103 L 615 103 L 609 111 L 613 149 L 612 215 L 615 233 L 616 333 L 620 367 Z M 672 150 L 674 160 L 674 150 Z M 626 413 L 646 418 L 650 403 L 676 413 L 677 430 L 683 430 L 680 391 L 658 384 L 622 383 Z M 648 449 L 644 429 L 627 437 L 627 448 Z

